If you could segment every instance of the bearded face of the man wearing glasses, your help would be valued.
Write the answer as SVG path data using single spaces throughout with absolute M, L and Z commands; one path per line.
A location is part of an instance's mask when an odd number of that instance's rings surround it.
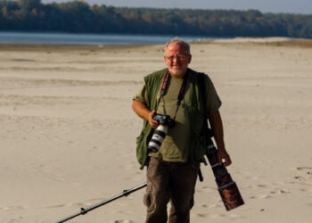
M 187 54 L 182 45 L 169 44 L 164 56 L 170 74 L 174 78 L 183 78 L 192 55 Z

